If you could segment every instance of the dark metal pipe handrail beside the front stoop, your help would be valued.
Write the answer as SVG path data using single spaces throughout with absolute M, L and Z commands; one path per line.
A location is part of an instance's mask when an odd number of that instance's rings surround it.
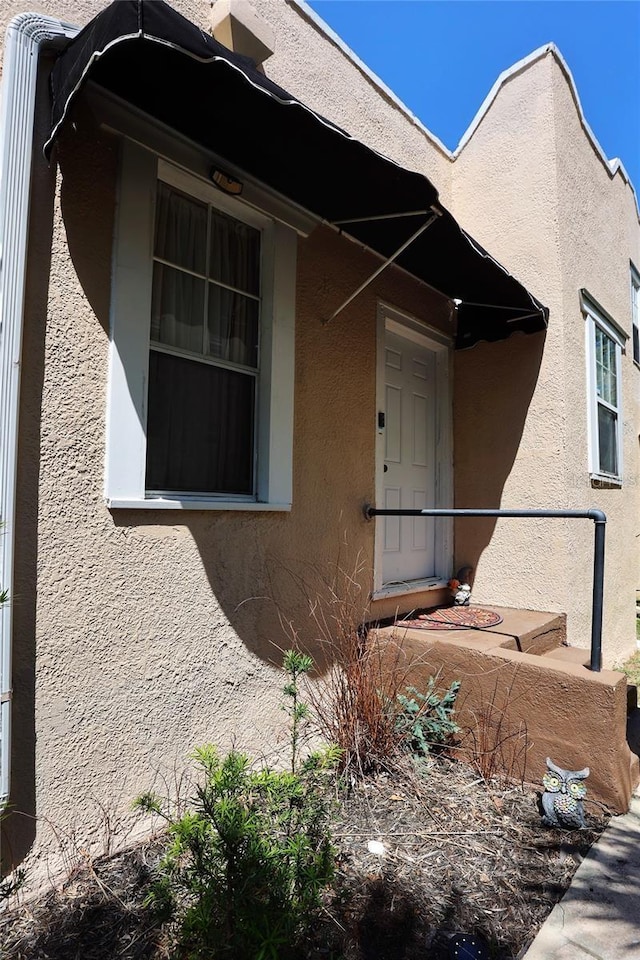
M 604 597 L 604 537 L 607 517 L 602 510 L 489 510 L 452 508 L 451 510 L 378 510 L 365 504 L 367 520 L 373 517 L 561 517 L 565 520 L 593 520 L 593 594 L 591 602 L 591 661 L 595 673 L 602 670 L 602 609 Z

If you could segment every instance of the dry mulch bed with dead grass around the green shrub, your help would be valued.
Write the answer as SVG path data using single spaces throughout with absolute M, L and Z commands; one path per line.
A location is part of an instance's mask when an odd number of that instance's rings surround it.
M 606 824 L 587 802 L 587 830 L 543 827 L 536 799 L 447 757 L 353 785 L 337 804 L 336 891 L 305 960 L 445 960 L 457 932 L 483 937 L 493 960 L 522 956 Z M 3 960 L 165 960 L 166 933 L 143 906 L 160 853 L 156 839 L 81 863 L 5 912 Z

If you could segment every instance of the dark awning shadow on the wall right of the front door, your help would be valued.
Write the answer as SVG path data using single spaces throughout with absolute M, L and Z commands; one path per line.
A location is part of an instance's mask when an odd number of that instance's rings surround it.
M 501 506 L 538 382 L 545 337 L 545 333 L 514 334 L 455 355 L 456 507 Z M 526 504 L 505 506 L 524 509 Z M 482 517 L 456 520 L 456 569 L 470 564 L 478 570 L 496 522 Z

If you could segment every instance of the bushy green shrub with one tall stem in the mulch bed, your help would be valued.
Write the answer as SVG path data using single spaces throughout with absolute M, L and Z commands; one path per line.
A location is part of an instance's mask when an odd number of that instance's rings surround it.
M 174 816 L 151 793 L 136 806 L 163 817 L 169 846 L 149 898 L 174 920 L 181 960 L 285 960 L 320 907 L 334 875 L 327 771 L 335 750 L 298 764 L 305 712 L 297 681 L 310 658 L 288 651 L 284 688 L 291 702 L 292 770 L 254 769 L 247 756 L 195 751 L 202 781 L 191 808 Z M 299 765 L 299 772 L 296 767 Z

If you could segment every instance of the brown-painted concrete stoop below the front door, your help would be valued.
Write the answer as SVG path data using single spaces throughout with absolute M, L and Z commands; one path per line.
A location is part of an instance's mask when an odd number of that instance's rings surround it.
M 546 757 L 568 770 L 591 770 L 588 796 L 625 813 L 640 771 L 626 739 L 627 682 L 589 670 L 588 650 L 564 646 L 563 614 L 491 607 L 495 627 L 418 630 L 399 624 L 371 636 L 385 669 L 425 688 L 460 680 L 461 748 L 494 757 L 515 777 L 539 783 Z M 640 713 L 638 715 L 640 744 Z

